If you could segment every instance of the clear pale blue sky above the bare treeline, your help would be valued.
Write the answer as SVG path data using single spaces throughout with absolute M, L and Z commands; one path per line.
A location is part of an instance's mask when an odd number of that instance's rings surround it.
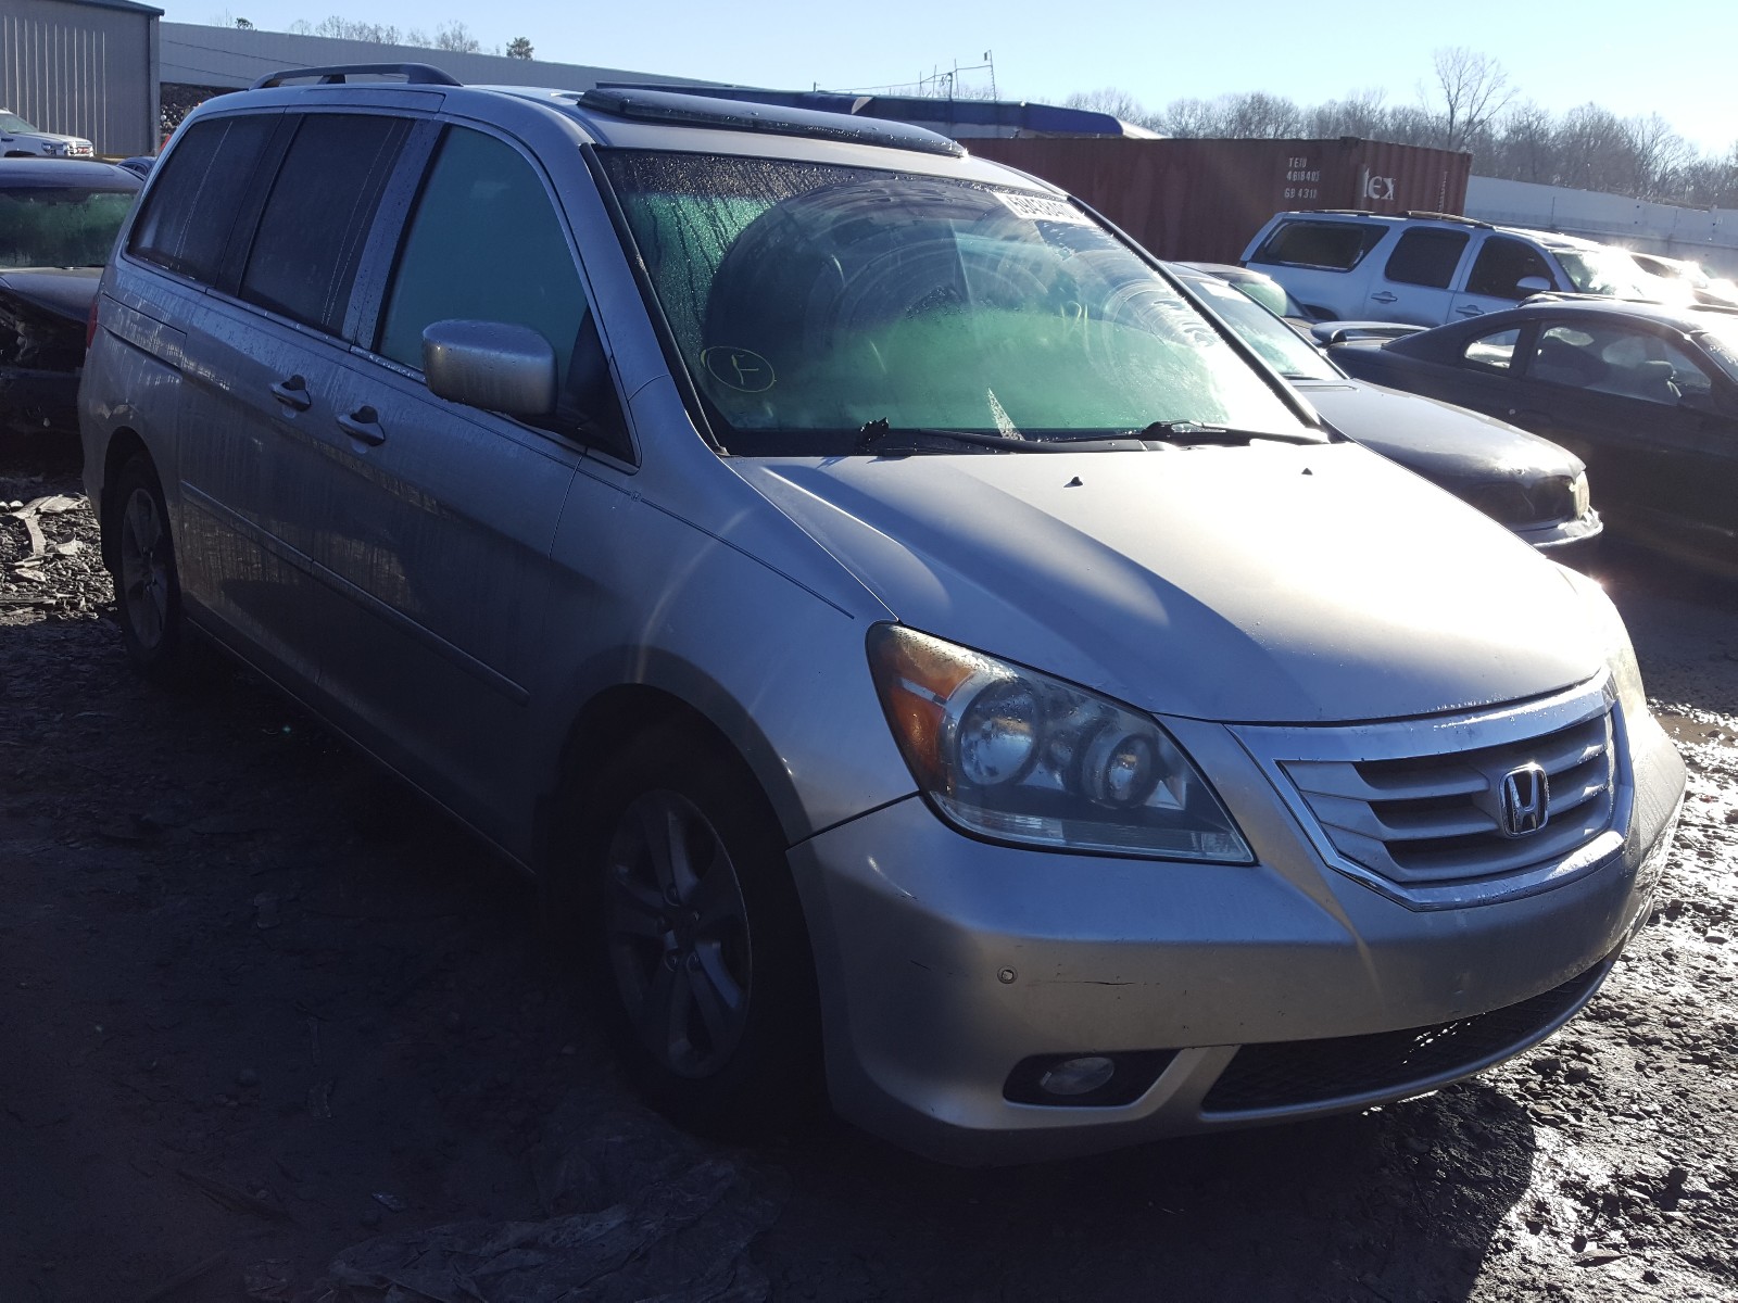
M 1658 23 L 1642 21 L 1632 0 L 1502 9 L 1239 0 L 1187 10 L 1154 0 L 879 0 L 852 9 L 806 0 L 620 9 L 570 0 L 346 0 L 344 9 L 334 0 L 151 2 L 170 23 L 235 16 L 273 31 L 334 12 L 424 31 L 461 21 L 487 50 L 527 36 L 539 59 L 554 63 L 780 89 L 909 85 L 984 64 L 989 54 L 1003 99 L 1058 103 L 1072 90 L 1114 87 L 1149 109 L 1239 90 L 1302 104 L 1383 90 L 1389 104 L 1416 104 L 1430 52 L 1465 45 L 1503 66 L 1517 99 L 1552 113 L 1592 101 L 1618 116 L 1658 113 L 1705 153 L 1724 155 L 1738 141 L 1731 0 L 1677 0 Z M 989 69 L 963 71 L 959 83 L 987 89 Z

